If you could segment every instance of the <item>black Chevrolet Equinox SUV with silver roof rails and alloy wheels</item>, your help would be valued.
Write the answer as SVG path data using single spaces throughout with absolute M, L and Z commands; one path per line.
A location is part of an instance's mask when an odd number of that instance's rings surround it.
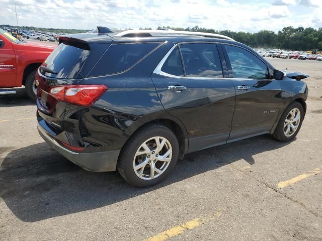
M 222 35 L 99 28 L 60 37 L 40 66 L 38 130 L 76 165 L 145 187 L 186 153 L 262 134 L 292 140 L 306 77 Z

